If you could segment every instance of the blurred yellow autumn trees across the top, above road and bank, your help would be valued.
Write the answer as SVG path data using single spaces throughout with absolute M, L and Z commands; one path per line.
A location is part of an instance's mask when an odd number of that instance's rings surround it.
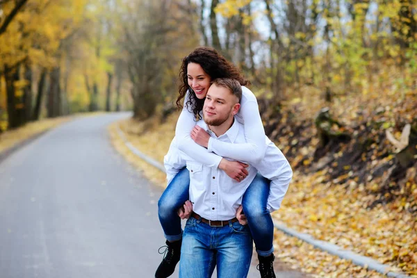
M 268 103 L 309 90 L 404 97 L 417 86 L 416 36 L 412 0 L 0 0 L 1 129 L 81 111 L 150 117 L 199 45 Z

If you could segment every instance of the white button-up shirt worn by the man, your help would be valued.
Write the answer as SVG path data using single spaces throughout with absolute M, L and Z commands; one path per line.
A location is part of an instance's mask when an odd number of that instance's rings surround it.
M 219 137 L 208 129 L 203 120 L 198 121 L 197 124 L 208 131 L 215 140 L 234 144 L 246 142 L 244 126 L 237 120 L 234 120 L 231 128 Z M 190 172 L 189 195 L 193 203 L 193 211 L 209 220 L 229 220 L 236 216 L 236 210 L 242 204 L 245 190 L 259 171 L 259 174 L 271 181 L 267 208 L 270 212 L 275 211 L 281 206 L 293 172 L 284 154 L 268 137 L 265 136 L 265 140 L 267 145 L 265 157 L 261 162 L 252 163 L 247 167 L 249 174 L 243 181 L 238 182 L 227 176 L 223 170 L 197 163 L 193 158 L 179 151 L 174 138 L 164 157 L 167 181 L 170 183 L 177 172 L 186 166 Z M 234 161 L 231 158 L 226 159 Z

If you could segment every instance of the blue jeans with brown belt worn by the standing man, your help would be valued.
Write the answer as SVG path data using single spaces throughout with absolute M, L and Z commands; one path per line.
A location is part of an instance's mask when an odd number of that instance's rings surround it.
M 215 266 L 219 278 L 247 277 L 252 259 L 252 237 L 239 222 L 224 227 L 190 218 L 183 233 L 179 278 L 211 277 Z

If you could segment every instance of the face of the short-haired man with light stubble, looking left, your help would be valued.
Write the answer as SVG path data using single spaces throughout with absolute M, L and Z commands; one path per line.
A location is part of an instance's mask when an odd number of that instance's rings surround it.
M 238 113 L 240 104 L 228 88 L 215 84 L 208 89 L 203 106 L 203 119 L 210 126 L 220 126 Z

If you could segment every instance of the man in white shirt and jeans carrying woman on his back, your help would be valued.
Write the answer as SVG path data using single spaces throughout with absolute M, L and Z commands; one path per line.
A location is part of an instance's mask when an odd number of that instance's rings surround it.
M 218 140 L 245 142 L 243 126 L 234 120 L 234 115 L 240 108 L 241 94 L 237 81 L 213 81 L 204 102 L 204 122 L 199 121 L 197 124 Z M 263 177 L 272 180 L 270 190 L 275 192 L 268 197 L 268 209 L 273 211 L 279 208 L 292 177 L 291 167 L 279 149 L 270 140 L 267 140 L 267 145 L 263 162 L 255 165 L 256 169 L 247 167 L 247 177 L 238 182 L 221 170 L 201 165 L 180 153 L 175 139 L 172 141 L 170 151 L 165 156 L 167 179 L 172 179 L 183 165 L 187 165 L 190 172 L 190 201 L 193 205 L 187 202 L 181 214 L 189 215 L 194 210 L 183 234 L 180 277 L 208 277 L 216 264 L 218 277 L 247 276 L 252 257 L 252 238 L 247 226 L 242 225 L 244 217 L 240 215 L 241 208 L 238 218 L 242 224 L 235 217 L 243 193 L 254 179 L 256 170 L 259 170 Z M 272 170 L 268 167 L 268 163 L 277 160 L 284 162 L 281 163 L 284 169 Z M 281 181 L 274 186 L 274 181 L 278 179 Z M 268 271 L 273 275 L 272 251 L 270 255 L 268 261 L 260 260 L 261 275 L 265 265 L 269 265 Z M 275 277 L 272 275 L 270 277 Z

